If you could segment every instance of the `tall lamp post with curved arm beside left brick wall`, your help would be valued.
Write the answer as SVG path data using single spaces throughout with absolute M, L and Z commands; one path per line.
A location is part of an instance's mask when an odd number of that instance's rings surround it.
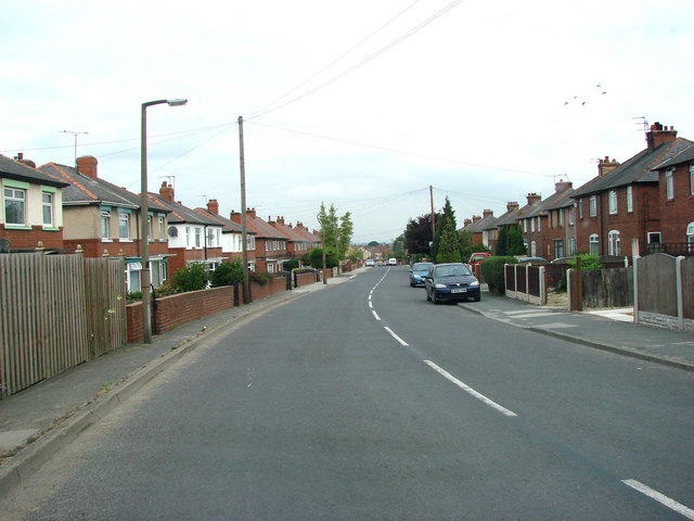
M 167 103 L 169 106 L 184 105 L 188 100 L 156 100 L 142 103 L 142 127 L 140 147 L 140 243 L 142 252 L 142 270 L 140 287 L 142 289 L 142 341 L 152 343 L 152 320 L 150 317 L 150 223 L 147 205 L 147 106 Z

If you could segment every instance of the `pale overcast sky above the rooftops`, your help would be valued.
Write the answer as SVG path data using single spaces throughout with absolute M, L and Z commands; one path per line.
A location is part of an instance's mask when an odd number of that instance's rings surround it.
M 5 0 L 0 154 L 93 155 L 140 192 L 390 242 L 449 198 L 459 227 L 597 160 L 645 148 L 644 122 L 694 140 L 691 0 Z M 75 152 L 75 143 L 77 151 Z M 429 187 L 432 189 L 429 190 Z

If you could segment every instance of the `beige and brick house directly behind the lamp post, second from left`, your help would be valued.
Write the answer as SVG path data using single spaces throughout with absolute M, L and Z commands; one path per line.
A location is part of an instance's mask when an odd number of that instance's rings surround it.
M 101 179 L 98 161 L 77 158 L 77 167 L 48 163 L 39 170 L 69 183 L 63 189 L 63 239 L 65 247 L 81 245 L 85 256 L 115 256 L 126 259 L 128 291 L 140 291 L 140 195 Z M 150 266 L 152 283 L 167 278 L 169 255 L 166 229 L 169 211 L 152 204 L 149 209 Z

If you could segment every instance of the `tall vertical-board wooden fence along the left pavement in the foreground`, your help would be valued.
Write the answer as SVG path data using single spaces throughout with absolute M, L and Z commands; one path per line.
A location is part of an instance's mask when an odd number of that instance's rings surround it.
M 121 258 L 0 255 L 0 398 L 126 343 Z

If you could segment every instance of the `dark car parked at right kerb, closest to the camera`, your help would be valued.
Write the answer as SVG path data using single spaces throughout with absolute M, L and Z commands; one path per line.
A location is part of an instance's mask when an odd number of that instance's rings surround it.
M 445 301 L 479 301 L 479 281 L 463 263 L 436 264 L 424 278 L 426 300 L 434 304 Z

